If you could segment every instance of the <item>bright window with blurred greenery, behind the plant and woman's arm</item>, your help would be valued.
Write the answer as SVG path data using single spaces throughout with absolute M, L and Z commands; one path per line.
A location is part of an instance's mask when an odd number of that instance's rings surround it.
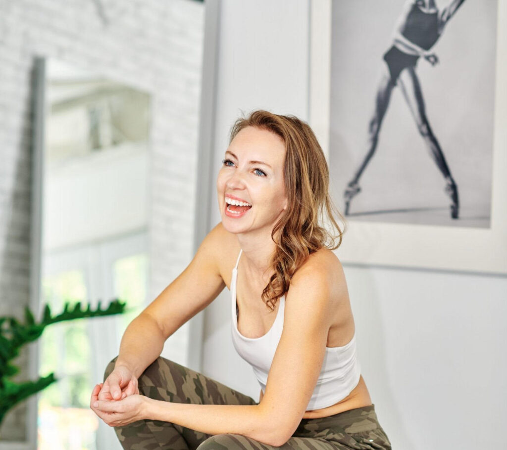
M 146 303 L 146 235 L 55 252 L 43 264 L 42 303 L 54 314 L 66 301 L 113 298 L 127 302 L 119 316 L 76 319 L 48 326 L 40 340 L 41 375 L 55 372 L 56 383 L 39 394 L 39 450 L 121 449 L 114 430 L 89 408 L 93 386 L 118 354 L 128 323 Z

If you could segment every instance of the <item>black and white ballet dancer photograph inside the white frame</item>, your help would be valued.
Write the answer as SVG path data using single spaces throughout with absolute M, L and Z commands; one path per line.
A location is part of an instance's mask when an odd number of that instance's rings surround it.
M 332 2 L 329 161 L 350 220 L 489 228 L 497 1 Z

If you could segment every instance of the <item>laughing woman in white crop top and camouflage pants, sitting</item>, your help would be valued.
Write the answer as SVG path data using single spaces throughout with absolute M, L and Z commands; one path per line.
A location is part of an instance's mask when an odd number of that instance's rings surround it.
M 216 184 L 222 222 L 128 326 L 92 392 L 92 410 L 118 427 L 124 448 L 391 448 L 360 375 L 345 278 L 330 250 L 343 232 L 328 181 L 301 120 L 255 111 L 236 121 Z M 337 235 L 321 227 L 324 214 Z M 259 380 L 259 402 L 159 357 L 226 285 L 234 346 Z

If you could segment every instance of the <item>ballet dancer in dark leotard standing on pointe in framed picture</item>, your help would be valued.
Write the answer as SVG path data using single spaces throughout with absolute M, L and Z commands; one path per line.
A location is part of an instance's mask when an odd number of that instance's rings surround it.
M 440 144 L 429 126 L 416 64 L 420 57 L 423 57 L 432 66 L 439 62 L 437 55 L 432 53 L 430 49 L 442 35 L 445 26 L 463 2 L 464 0 L 453 0 L 443 10 L 437 8 L 434 0 L 408 0 L 405 3 L 395 28 L 393 45 L 384 54 L 386 65 L 382 68 L 375 110 L 368 128 L 368 151 L 344 192 L 345 215 L 349 214 L 350 201 L 361 190 L 358 184 L 359 177 L 375 153 L 382 119 L 389 105 L 391 92 L 397 85 L 402 90 L 431 157 L 437 163 L 446 180 L 445 192 L 451 198 L 451 217 L 458 218 L 458 188 L 447 166 Z

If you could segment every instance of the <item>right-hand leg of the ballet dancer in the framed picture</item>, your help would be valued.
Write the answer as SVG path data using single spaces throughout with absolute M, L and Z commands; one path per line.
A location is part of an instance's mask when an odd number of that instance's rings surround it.
M 458 188 L 454 179 L 452 178 L 451 171 L 447 165 L 444 153 L 440 144 L 433 134 L 429 121 L 426 116 L 426 108 L 424 105 L 424 99 L 422 96 L 421 84 L 414 67 L 407 67 L 401 73 L 398 78 L 400 89 L 403 92 L 403 96 L 409 105 L 410 112 L 412 113 L 419 133 L 426 142 L 432 159 L 437 163 L 440 172 L 444 176 L 447 182 L 446 193 L 451 198 L 451 217 L 453 219 L 458 218 Z

